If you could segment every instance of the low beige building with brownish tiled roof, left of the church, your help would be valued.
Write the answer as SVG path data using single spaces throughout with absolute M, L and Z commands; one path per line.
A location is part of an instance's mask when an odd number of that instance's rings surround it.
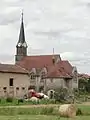
M 28 71 L 18 65 L 0 64 L 0 97 L 22 97 L 29 84 Z

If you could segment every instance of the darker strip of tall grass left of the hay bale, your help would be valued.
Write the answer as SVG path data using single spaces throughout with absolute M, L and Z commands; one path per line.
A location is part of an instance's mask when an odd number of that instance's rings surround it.
M 0 115 L 54 115 L 53 107 L 0 108 Z

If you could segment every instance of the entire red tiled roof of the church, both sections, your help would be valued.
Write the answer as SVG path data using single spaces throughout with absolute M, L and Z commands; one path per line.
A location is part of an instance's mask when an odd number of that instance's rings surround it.
M 56 63 L 53 64 L 53 55 L 40 55 L 40 56 L 26 56 L 17 64 L 21 67 L 31 70 L 32 68 L 40 69 L 46 67 L 48 70 L 47 77 L 72 77 L 73 67 L 68 61 L 63 61 L 60 55 L 54 55 Z M 58 61 L 59 60 L 59 61 Z

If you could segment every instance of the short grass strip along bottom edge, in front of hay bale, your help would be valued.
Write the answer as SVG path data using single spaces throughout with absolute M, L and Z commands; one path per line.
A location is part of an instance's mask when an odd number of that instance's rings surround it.
M 0 120 L 90 120 L 90 116 L 77 116 L 74 119 L 46 115 L 0 116 Z

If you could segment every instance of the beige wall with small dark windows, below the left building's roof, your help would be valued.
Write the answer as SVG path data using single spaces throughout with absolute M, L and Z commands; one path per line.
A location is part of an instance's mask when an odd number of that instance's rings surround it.
M 13 78 L 13 86 L 9 86 L 9 79 Z M 30 85 L 29 77 L 25 74 L 12 74 L 12 73 L 0 73 L 0 95 L 5 96 L 6 94 L 13 95 L 14 97 L 21 97 L 22 94 L 28 91 L 28 86 Z M 7 87 L 4 93 L 4 87 Z M 16 88 L 19 88 L 17 90 Z M 22 88 L 25 88 L 23 90 Z M 22 92 L 23 91 L 23 92 Z

